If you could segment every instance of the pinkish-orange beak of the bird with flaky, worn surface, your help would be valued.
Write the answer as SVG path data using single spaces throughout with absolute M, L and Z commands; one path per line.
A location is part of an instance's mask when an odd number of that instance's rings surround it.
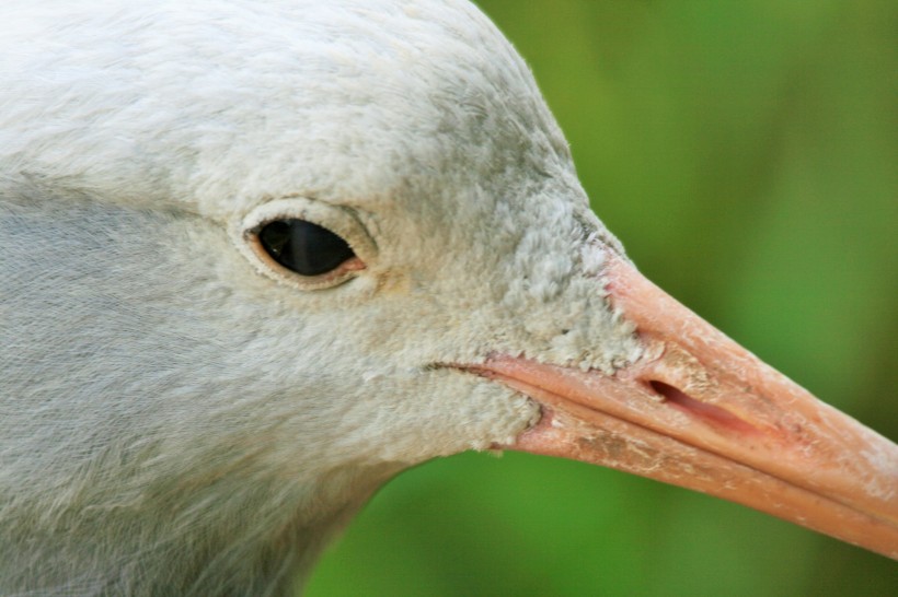
M 617 256 L 607 290 L 644 356 L 613 375 L 496 356 L 465 367 L 537 400 L 509 449 L 710 493 L 898 559 L 898 446 L 820 402 Z

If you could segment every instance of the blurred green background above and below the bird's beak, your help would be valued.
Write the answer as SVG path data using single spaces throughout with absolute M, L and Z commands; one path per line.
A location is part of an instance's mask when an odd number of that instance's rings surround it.
M 487 1 L 641 269 L 898 438 L 894 1 Z M 334 596 L 895 596 L 898 564 L 747 508 L 521 454 L 384 488 Z

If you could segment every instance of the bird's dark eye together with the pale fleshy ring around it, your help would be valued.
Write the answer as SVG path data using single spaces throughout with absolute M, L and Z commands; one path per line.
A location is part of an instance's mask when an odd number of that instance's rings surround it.
M 353 210 L 306 197 L 263 203 L 235 232 L 241 251 L 260 271 L 301 290 L 343 284 L 377 255 Z M 320 249 L 331 255 L 315 255 Z

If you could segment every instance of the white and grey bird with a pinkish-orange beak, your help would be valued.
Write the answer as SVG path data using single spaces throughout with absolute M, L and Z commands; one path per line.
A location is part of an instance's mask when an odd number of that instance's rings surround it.
M 894 444 L 642 278 L 472 5 L 10 14 L 0 592 L 284 593 L 465 449 L 896 557 Z

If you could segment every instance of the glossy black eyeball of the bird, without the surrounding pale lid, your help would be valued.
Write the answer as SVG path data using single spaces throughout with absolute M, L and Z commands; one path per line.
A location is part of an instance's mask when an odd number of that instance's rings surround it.
M 275 261 L 302 276 L 327 273 L 355 255 L 346 241 L 304 220 L 265 224 L 258 239 Z

